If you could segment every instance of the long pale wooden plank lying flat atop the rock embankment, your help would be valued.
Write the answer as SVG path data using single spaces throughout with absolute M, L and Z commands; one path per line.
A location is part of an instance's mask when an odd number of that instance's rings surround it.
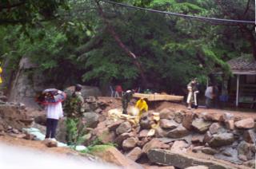
M 146 98 L 149 101 L 157 100 L 167 100 L 167 101 L 182 101 L 184 96 L 174 96 L 174 95 L 162 95 L 162 94 L 143 94 L 143 93 L 134 93 L 133 95 L 136 98 Z

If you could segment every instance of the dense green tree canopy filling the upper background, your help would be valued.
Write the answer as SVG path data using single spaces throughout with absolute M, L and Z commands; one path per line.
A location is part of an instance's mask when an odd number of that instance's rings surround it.
M 114 2 L 178 14 L 254 20 L 252 0 Z M 132 88 L 142 86 L 145 76 L 145 88 L 181 93 L 180 88 L 193 77 L 206 83 L 210 73 L 229 73 L 226 61 L 231 58 L 243 53 L 256 58 L 254 25 L 178 18 L 91 0 L 6 1 L 1 9 L 2 59 L 8 57 L 16 69 L 22 56 L 30 56 L 40 71 L 63 84 L 112 83 Z

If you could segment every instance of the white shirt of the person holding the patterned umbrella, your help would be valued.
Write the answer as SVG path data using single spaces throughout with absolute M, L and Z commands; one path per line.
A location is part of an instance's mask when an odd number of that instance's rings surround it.
M 62 102 L 58 102 L 58 104 L 49 104 L 46 106 L 46 117 L 48 119 L 58 120 L 62 116 L 63 116 Z

